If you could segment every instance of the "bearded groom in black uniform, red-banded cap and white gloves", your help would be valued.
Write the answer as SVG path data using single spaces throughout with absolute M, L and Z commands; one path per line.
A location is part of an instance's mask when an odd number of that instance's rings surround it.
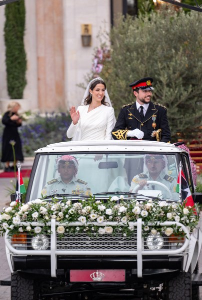
M 150 101 L 152 82 L 151 77 L 145 77 L 129 85 L 136 101 L 122 106 L 112 130 L 114 140 L 140 139 L 170 143 L 166 108 Z

